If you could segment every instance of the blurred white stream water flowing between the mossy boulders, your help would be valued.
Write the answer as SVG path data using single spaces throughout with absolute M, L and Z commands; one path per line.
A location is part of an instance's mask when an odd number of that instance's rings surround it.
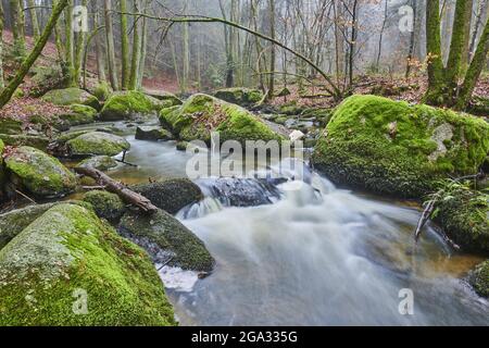
M 139 166 L 111 175 L 185 175 L 190 156 L 174 144 L 128 139 L 126 160 Z M 308 170 L 304 178 L 197 182 L 206 198 L 177 217 L 205 243 L 215 270 L 204 279 L 160 271 L 183 325 L 489 324 L 488 301 L 464 281 L 480 258 L 453 251 L 431 226 L 415 246 L 416 208 L 338 189 Z M 230 207 L 239 192 L 266 204 Z M 413 294 L 413 315 L 399 311 L 402 289 Z

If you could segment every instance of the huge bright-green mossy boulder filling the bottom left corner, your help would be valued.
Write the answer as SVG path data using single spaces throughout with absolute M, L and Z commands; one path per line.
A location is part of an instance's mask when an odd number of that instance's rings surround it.
M 147 253 L 75 204 L 51 208 L 0 250 L 0 325 L 175 324 Z

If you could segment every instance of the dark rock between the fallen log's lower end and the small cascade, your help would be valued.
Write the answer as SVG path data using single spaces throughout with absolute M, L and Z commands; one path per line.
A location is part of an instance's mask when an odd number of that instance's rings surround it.
M 176 214 L 184 207 L 203 198 L 199 186 L 188 178 L 172 178 L 160 183 L 138 184 L 130 189 L 141 194 L 164 211 Z

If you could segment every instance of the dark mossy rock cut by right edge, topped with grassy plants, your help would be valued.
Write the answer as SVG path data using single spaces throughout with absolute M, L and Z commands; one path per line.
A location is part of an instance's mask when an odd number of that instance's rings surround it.
M 465 250 L 489 252 L 489 195 L 456 189 L 438 203 L 434 220 Z

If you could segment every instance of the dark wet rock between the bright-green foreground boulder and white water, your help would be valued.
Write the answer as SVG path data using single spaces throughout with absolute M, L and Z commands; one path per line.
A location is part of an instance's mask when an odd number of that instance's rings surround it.
M 126 212 L 118 229 L 145 248 L 155 263 L 203 272 L 210 272 L 214 265 L 203 241 L 163 210 L 151 215 Z

